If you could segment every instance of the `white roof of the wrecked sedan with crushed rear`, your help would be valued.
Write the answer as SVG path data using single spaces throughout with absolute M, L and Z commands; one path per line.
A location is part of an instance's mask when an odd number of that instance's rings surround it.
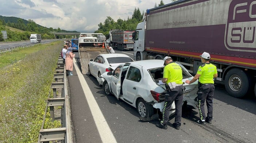
M 164 67 L 164 60 L 139 60 L 135 62 L 130 62 L 131 66 L 133 64 L 142 66 L 145 69 Z

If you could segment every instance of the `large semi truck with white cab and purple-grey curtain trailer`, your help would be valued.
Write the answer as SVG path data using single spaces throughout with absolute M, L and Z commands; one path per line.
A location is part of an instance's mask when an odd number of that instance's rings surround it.
M 180 0 L 148 9 L 133 38 L 134 59 L 170 55 L 193 74 L 199 55 L 209 52 L 215 80 L 231 96 L 256 95 L 256 0 Z

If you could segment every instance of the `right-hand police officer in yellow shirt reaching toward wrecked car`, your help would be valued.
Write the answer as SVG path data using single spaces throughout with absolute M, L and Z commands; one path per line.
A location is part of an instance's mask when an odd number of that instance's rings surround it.
M 213 113 L 213 93 L 214 93 L 214 80 L 218 76 L 217 68 L 209 62 L 210 54 L 204 52 L 201 56 L 202 65 L 199 66 L 196 75 L 192 80 L 186 80 L 187 84 L 191 84 L 198 80 L 198 92 L 197 101 L 200 120 L 197 122 L 205 125 L 205 122 L 212 123 L 212 113 Z M 207 106 L 207 117 L 205 117 L 204 103 L 206 100 Z

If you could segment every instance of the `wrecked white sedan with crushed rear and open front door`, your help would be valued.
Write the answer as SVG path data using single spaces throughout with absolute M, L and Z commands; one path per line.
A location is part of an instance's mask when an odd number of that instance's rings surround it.
M 143 121 L 158 119 L 163 112 L 165 99 L 165 85 L 161 84 L 163 63 L 164 60 L 140 60 L 119 64 L 115 70 L 101 75 L 103 91 L 106 95 L 113 94 L 117 99 L 135 107 Z M 186 84 L 185 81 L 191 80 L 193 76 L 184 66 L 179 65 L 185 87 L 183 104 L 196 109 L 197 82 Z M 170 115 L 174 113 L 173 103 Z

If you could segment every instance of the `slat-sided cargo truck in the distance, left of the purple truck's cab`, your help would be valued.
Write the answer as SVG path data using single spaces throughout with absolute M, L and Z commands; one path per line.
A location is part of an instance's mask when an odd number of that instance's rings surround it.
M 111 29 L 109 31 L 109 45 L 118 50 L 133 50 L 133 32 L 132 30 Z

